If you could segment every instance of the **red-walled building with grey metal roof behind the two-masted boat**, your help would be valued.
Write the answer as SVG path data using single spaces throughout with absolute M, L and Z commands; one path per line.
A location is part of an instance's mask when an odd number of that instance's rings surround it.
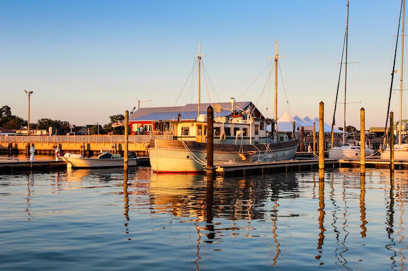
M 207 108 L 210 105 L 214 109 L 214 116 L 229 117 L 233 113 L 231 102 L 219 104 L 202 103 L 200 104 L 200 115 L 206 115 Z M 252 102 L 234 103 L 235 114 L 247 109 L 253 112 L 254 117 L 265 119 Z M 166 134 L 172 122 L 193 121 L 197 119 L 197 117 L 198 104 L 187 104 L 185 106 L 175 107 L 144 107 L 139 108 L 129 116 L 129 126 L 132 135 Z

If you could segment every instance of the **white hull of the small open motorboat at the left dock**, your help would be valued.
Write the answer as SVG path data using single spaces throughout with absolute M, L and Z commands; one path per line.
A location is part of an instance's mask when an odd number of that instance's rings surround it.
M 67 167 L 74 168 L 104 168 L 104 167 L 123 167 L 123 158 L 84 158 L 81 155 L 70 155 L 60 157 L 62 161 L 67 163 Z M 137 166 L 137 159 L 130 158 L 127 160 L 128 166 Z

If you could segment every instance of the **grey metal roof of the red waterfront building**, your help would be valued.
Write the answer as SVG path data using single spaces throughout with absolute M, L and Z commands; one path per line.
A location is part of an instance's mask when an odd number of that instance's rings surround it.
M 228 116 L 231 114 L 231 103 L 218 103 L 221 106 L 221 111 L 216 112 L 215 104 L 201 103 L 201 114 L 207 114 L 207 108 L 211 105 L 214 108 L 214 115 Z M 252 102 L 235 102 L 235 110 L 237 112 L 245 109 L 248 106 L 252 107 Z M 263 117 L 259 110 L 255 108 L 258 117 Z M 139 108 L 136 112 L 129 116 L 130 122 L 135 121 L 156 121 L 156 120 L 176 120 L 180 114 L 182 119 L 195 119 L 198 115 L 198 104 L 186 104 L 185 106 L 172 107 L 144 107 Z

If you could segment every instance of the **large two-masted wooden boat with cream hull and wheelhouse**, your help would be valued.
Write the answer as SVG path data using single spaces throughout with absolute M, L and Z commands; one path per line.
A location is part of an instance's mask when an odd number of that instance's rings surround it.
M 149 142 L 149 160 L 155 172 L 202 172 L 207 165 L 207 115 L 200 109 L 200 43 L 198 49 L 198 104 L 197 118 L 180 119 L 169 125 L 172 140 L 152 139 Z M 277 42 L 275 66 L 277 68 Z M 276 101 L 276 99 L 275 99 Z M 292 160 L 299 146 L 294 135 L 275 133 L 268 137 L 266 119 L 251 102 L 240 103 L 231 98 L 230 108 L 225 103 L 214 104 L 214 166 L 238 163 Z

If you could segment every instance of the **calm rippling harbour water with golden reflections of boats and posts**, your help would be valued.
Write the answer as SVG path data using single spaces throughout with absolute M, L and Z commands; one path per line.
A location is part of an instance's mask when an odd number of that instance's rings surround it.
M 401 270 L 407 175 L 3 174 L 0 269 Z

